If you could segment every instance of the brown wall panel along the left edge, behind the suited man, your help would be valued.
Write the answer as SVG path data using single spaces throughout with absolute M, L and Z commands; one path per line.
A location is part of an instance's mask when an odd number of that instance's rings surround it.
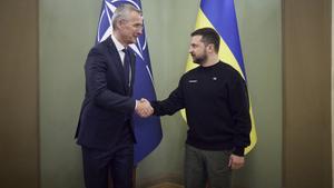
M 38 0 L 0 2 L 0 187 L 37 188 Z

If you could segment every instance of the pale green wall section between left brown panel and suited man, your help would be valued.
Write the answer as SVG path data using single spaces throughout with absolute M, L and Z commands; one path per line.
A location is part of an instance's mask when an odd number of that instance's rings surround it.
M 84 187 L 75 144 L 84 98 L 84 63 L 95 43 L 99 0 L 40 0 L 41 188 Z

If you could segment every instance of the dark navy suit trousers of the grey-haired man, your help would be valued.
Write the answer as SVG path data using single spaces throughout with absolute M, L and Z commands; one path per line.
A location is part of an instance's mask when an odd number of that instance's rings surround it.
M 134 144 L 122 142 L 110 150 L 81 147 L 86 188 L 132 188 Z

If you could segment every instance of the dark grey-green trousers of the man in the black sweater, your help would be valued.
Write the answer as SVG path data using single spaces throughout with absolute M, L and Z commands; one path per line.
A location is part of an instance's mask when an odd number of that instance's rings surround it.
M 230 188 L 230 151 L 202 150 L 186 145 L 185 188 Z

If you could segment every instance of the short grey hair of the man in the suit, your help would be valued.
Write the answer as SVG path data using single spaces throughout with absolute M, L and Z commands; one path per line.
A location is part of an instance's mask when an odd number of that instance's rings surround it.
M 141 10 L 137 9 L 130 3 L 122 3 L 117 7 L 117 9 L 114 12 L 114 16 L 111 18 L 112 22 L 112 28 L 117 28 L 117 22 L 120 20 L 128 20 L 130 12 L 137 12 L 140 16 L 143 14 Z

